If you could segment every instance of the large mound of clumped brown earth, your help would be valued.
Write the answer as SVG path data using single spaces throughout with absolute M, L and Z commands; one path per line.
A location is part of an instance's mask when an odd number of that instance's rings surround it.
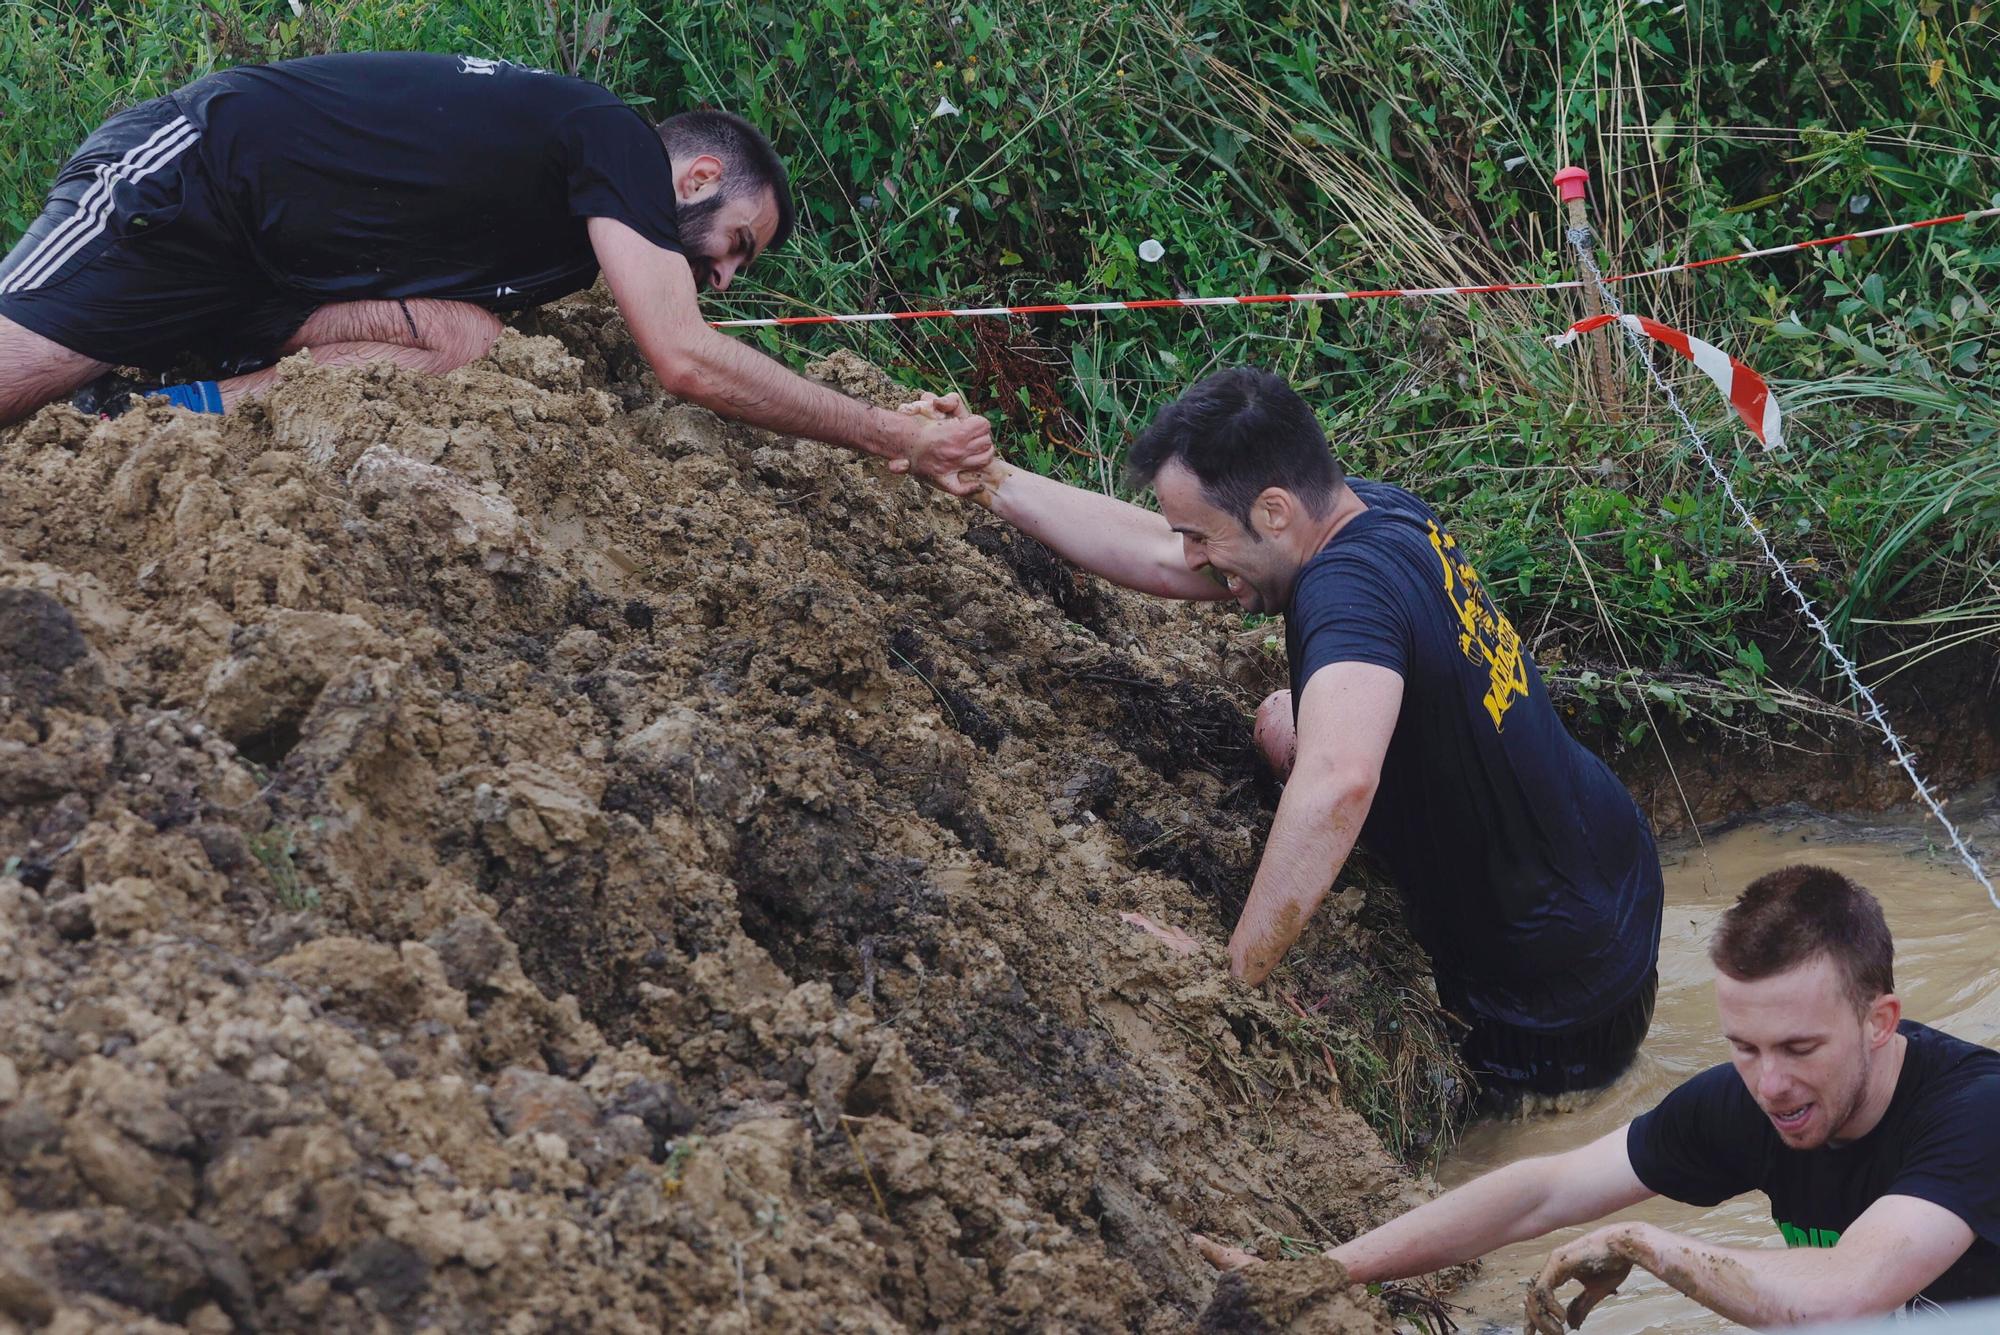
M 1452 1085 L 1222 977 L 1262 636 L 538 328 L 0 434 L 0 1329 L 1384 1329 L 1186 1241 Z

